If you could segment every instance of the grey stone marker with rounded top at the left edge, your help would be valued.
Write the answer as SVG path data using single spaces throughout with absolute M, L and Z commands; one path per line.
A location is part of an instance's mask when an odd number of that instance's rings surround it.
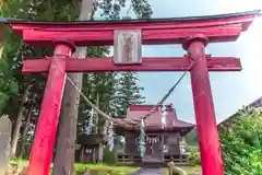
M 8 171 L 11 140 L 11 121 L 8 117 L 0 118 L 0 175 Z

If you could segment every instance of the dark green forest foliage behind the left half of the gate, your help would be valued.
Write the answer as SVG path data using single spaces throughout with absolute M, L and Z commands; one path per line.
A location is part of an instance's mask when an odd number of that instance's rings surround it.
M 0 10 L 0 15 L 25 21 L 75 21 L 80 13 L 80 4 L 81 0 L 8 0 L 5 9 Z M 129 8 L 128 4 L 132 7 L 138 18 L 150 18 L 152 14 L 146 0 L 94 0 L 92 20 L 96 18 L 119 20 L 122 18 L 121 10 Z M 13 139 L 26 140 L 26 144 L 33 141 L 32 132 L 35 131 L 39 116 L 47 74 L 22 74 L 22 61 L 52 56 L 52 47 L 26 45 L 19 35 L 9 30 L 3 56 L 0 59 L 0 115 L 8 115 L 14 127 L 20 112 L 23 110 L 19 138 Z M 88 57 L 106 57 L 109 52 L 109 47 L 87 48 Z M 24 96 L 27 86 L 29 86 L 29 93 Z M 85 73 L 83 77 L 84 95 L 96 104 L 97 94 L 99 94 L 99 108 L 115 116 L 123 114 L 128 104 L 143 103 L 142 90 L 134 72 Z M 81 98 L 78 131 L 86 126 L 90 110 L 91 107 Z M 100 126 L 100 122 L 104 122 L 104 119 L 100 119 L 97 125 Z M 24 130 L 29 139 L 22 138 Z

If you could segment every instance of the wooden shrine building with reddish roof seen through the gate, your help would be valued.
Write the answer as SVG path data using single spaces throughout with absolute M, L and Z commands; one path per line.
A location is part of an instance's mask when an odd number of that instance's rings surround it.
M 140 127 L 134 127 L 130 122 L 141 120 L 153 107 L 153 105 L 131 105 L 126 117 L 118 117 L 116 133 L 123 136 L 122 141 L 116 145 L 118 163 L 188 162 L 189 153 L 186 151 L 184 136 L 194 128 L 194 125 L 178 119 L 172 105 L 159 105 L 155 113 L 144 120 L 145 153 L 144 156 L 140 155 Z

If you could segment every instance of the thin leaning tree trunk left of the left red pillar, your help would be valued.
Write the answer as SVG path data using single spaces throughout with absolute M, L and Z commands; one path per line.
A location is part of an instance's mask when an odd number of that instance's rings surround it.
M 26 97 L 29 93 L 29 89 L 31 89 L 31 85 L 27 85 L 27 88 L 25 89 L 23 96 L 22 96 L 22 103 L 21 103 L 21 107 L 19 110 L 17 119 L 16 119 L 14 131 L 13 131 L 13 139 L 12 139 L 12 144 L 11 144 L 11 152 L 10 152 L 11 159 L 16 158 L 16 148 L 17 148 L 17 142 L 19 142 L 20 129 L 22 126 L 23 114 L 25 112 L 24 103 L 26 102 Z

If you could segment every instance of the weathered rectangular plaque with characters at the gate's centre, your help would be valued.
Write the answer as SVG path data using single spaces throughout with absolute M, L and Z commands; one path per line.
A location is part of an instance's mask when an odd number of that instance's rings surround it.
M 114 63 L 142 63 L 141 30 L 118 30 L 114 32 Z

